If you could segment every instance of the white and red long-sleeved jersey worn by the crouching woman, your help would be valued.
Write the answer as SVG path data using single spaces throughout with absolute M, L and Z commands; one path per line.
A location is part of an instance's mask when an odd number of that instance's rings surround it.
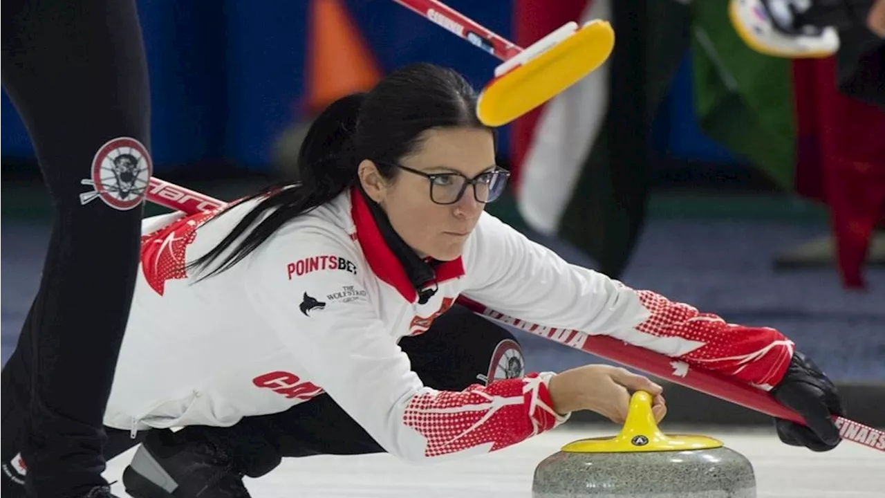
M 761 388 L 793 345 L 568 264 L 490 214 L 424 304 L 358 191 L 296 217 L 232 268 L 187 268 L 257 201 L 145 220 L 142 262 L 105 424 L 228 426 L 327 393 L 381 447 L 420 461 L 488 452 L 561 424 L 550 373 L 440 392 L 397 346 L 458 298 L 540 325 L 605 334 Z M 214 217 L 214 219 L 213 219 Z M 219 260 L 220 262 L 220 260 Z

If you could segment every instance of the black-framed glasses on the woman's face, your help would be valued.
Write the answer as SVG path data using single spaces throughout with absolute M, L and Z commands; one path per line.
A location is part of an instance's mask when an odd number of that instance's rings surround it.
M 501 167 L 495 167 L 489 171 L 483 171 L 473 178 L 467 178 L 460 173 L 425 173 L 419 169 L 403 166 L 396 163 L 382 163 L 392 167 L 398 167 L 414 175 L 427 178 L 430 183 L 430 200 L 436 204 L 455 204 L 464 197 L 467 187 L 473 185 L 473 198 L 481 204 L 489 204 L 501 197 L 510 172 Z

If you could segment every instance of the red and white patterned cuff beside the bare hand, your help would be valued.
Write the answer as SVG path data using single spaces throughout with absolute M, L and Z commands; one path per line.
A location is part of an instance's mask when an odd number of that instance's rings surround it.
M 485 387 L 474 384 L 459 393 L 420 393 L 404 412 L 404 424 L 427 440 L 427 457 L 489 443 L 489 451 L 496 451 L 563 420 L 552 408 L 546 381 L 536 373 Z

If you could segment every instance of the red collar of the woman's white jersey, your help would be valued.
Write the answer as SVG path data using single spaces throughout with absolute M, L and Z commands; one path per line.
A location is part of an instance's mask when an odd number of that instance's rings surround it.
M 378 222 L 375 221 L 372 211 L 366 203 L 366 199 L 357 188 L 350 191 L 350 205 L 350 215 L 357 228 L 357 241 L 362 247 L 363 253 L 366 254 L 369 268 L 372 268 L 375 276 L 378 276 L 381 281 L 394 287 L 405 300 L 415 302 L 418 299 L 418 291 L 405 272 L 403 260 L 390 249 Z M 442 284 L 453 278 L 464 276 L 464 264 L 458 257 L 457 260 L 437 264 L 435 272 L 435 283 Z

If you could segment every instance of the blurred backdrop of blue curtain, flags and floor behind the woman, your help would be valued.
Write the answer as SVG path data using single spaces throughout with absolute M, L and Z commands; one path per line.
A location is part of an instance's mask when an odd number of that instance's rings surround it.
M 489 211 L 627 285 L 778 328 L 847 393 L 863 387 L 849 406 L 877 406 L 885 114 L 843 93 L 837 58 L 750 51 L 727 0 L 448 4 L 521 46 L 569 20 L 609 19 L 617 34 L 604 67 L 502 128 L 513 179 Z M 155 175 L 221 198 L 289 175 L 312 116 L 397 66 L 451 66 L 481 88 L 499 63 L 389 0 L 142 0 L 140 11 Z M 0 362 L 36 291 L 48 200 L 0 96 Z M 519 337 L 531 370 L 588 361 Z

